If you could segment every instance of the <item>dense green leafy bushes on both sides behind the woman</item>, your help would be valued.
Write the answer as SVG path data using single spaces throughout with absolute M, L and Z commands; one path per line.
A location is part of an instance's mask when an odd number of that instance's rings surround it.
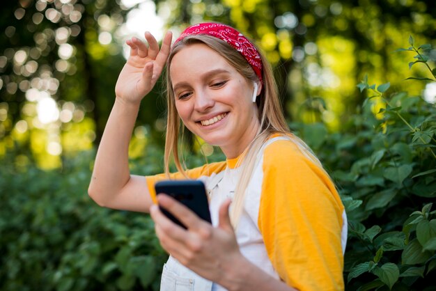
M 413 41 L 405 50 L 414 51 Z M 416 61 L 427 64 L 428 58 L 419 54 Z M 346 289 L 435 290 L 435 106 L 404 92 L 387 95 L 389 84 L 369 85 L 367 77 L 359 88 L 375 97 L 341 132 L 291 124 L 332 173 L 343 198 Z M 377 115 L 375 99 L 384 104 Z M 1 161 L 0 290 L 159 289 L 167 255 L 153 221 L 88 198 L 93 156 L 84 152 L 49 172 L 15 164 L 13 153 Z M 132 161 L 134 172 L 144 175 L 162 171 L 161 165 L 162 150 L 153 147 Z

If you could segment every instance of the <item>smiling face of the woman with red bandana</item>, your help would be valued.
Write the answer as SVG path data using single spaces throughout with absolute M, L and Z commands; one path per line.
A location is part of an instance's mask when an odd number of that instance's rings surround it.
M 203 44 L 180 50 L 173 56 L 169 73 L 185 126 L 219 146 L 226 157 L 238 157 L 259 127 L 258 109 L 251 100 L 253 82 Z

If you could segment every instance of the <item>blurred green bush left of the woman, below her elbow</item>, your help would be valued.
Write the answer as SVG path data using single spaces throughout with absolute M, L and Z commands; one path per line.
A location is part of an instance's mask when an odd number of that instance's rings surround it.
M 62 171 L 25 173 L 3 161 L 0 290 L 159 290 L 167 255 L 153 221 L 96 205 L 86 194 L 92 160 L 84 152 Z

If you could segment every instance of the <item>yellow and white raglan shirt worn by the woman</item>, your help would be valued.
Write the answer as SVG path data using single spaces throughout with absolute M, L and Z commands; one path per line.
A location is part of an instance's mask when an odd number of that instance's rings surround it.
M 221 203 L 240 177 L 238 158 L 187 171 L 210 191 L 212 224 Z M 154 184 L 165 175 L 146 177 Z M 183 179 L 180 173 L 173 179 Z M 306 158 L 287 136 L 272 137 L 258 154 L 247 187 L 244 211 L 235 230 L 241 253 L 254 265 L 300 291 L 343 290 L 343 253 L 347 238 L 345 210 L 325 171 Z M 224 290 L 183 267 L 171 256 L 161 290 Z

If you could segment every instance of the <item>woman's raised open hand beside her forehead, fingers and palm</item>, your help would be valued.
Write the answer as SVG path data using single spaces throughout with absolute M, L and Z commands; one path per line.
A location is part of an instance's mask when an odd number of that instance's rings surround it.
M 123 101 L 139 103 L 150 93 L 165 66 L 171 48 L 171 32 L 167 32 L 159 50 L 154 36 L 148 31 L 144 34 L 147 45 L 138 38 L 127 40 L 130 56 L 116 81 L 116 97 Z

